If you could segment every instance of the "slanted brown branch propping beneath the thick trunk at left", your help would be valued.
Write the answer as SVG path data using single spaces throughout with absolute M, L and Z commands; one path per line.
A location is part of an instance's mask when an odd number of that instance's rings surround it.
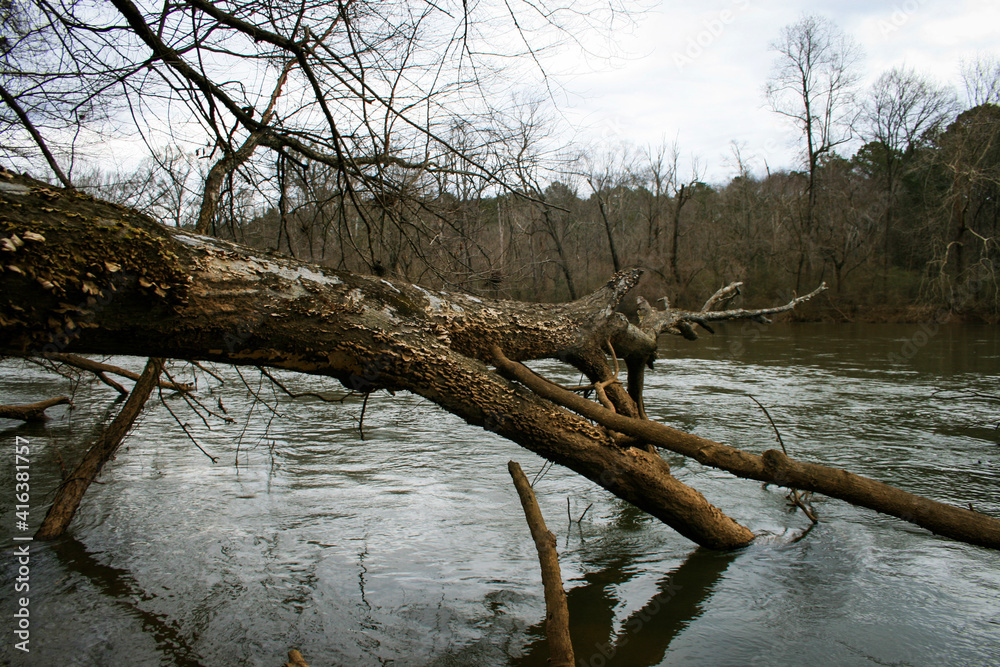
M 143 369 L 139 381 L 135 383 L 121 411 L 60 485 L 52 507 L 49 508 L 41 527 L 35 533 L 35 539 L 51 540 L 65 532 L 80 506 L 80 501 L 83 500 L 83 494 L 87 492 L 104 464 L 114 456 L 118 446 L 135 424 L 162 370 L 162 359 L 150 359 L 146 362 L 146 368 Z

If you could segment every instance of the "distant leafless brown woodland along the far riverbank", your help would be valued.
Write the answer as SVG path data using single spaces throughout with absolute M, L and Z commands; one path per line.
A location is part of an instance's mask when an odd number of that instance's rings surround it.
M 232 211 L 215 231 L 332 267 L 517 299 L 576 298 L 639 266 L 649 296 L 682 305 L 735 280 L 755 301 L 826 281 L 823 304 L 844 316 L 921 305 L 1000 313 L 996 105 L 904 151 L 870 142 L 850 158 L 823 156 L 811 215 L 806 173 L 757 177 L 741 165 L 712 186 L 685 182 L 668 153 L 494 196 L 470 185 L 352 197 L 313 170 L 281 206 Z

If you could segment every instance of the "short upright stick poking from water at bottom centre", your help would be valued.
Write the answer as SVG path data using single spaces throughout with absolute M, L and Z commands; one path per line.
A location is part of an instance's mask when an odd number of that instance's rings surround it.
M 545 636 L 549 640 L 549 664 L 552 667 L 573 667 L 573 643 L 569 637 L 569 609 L 566 591 L 563 590 L 559 572 L 559 555 L 556 553 L 556 536 L 545 527 L 542 510 L 538 507 L 535 492 L 516 461 L 507 464 L 514 480 L 514 488 L 521 499 L 524 518 L 531 531 L 538 551 L 538 565 L 542 569 L 542 587 L 545 589 Z

